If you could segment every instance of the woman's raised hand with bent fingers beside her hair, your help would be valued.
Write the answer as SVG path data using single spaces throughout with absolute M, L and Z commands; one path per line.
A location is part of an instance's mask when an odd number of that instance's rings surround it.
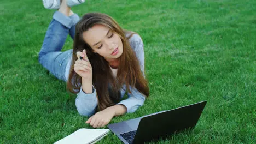
M 80 59 L 82 57 L 83 59 Z M 86 55 L 85 49 L 80 52 L 77 52 L 77 61 L 74 64 L 74 71 L 79 76 L 82 77 L 82 80 L 86 80 L 91 82 L 92 81 L 92 68 L 91 63 Z

